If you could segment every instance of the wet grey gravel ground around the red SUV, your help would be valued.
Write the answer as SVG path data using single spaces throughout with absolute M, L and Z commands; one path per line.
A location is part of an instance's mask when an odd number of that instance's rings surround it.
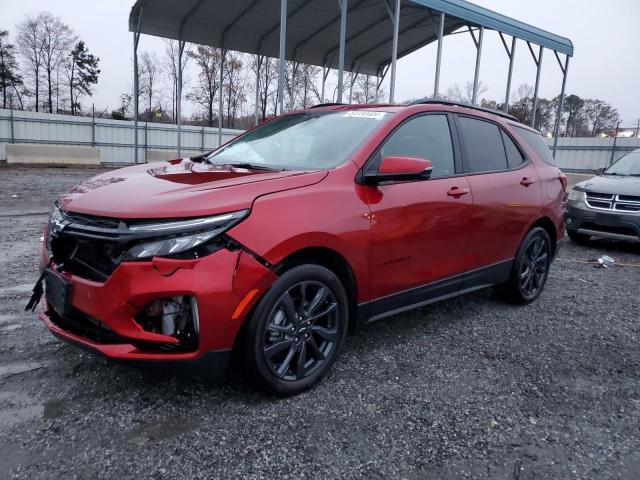
M 637 247 L 567 241 L 532 305 L 374 323 L 276 399 L 108 363 L 23 311 L 46 219 L 24 213 L 93 173 L 0 169 L 0 478 L 640 477 L 640 268 L 576 263 Z

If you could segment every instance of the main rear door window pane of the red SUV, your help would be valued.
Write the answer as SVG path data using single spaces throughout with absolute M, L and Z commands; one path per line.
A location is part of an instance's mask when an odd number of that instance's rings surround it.
M 458 117 L 462 128 L 469 172 L 492 172 L 507 169 L 507 155 L 500 127 L 470 117 Z

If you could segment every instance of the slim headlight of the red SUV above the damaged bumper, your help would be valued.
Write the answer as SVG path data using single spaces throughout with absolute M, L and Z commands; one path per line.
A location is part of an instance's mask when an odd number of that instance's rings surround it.
M 124 260 L 170 257 L 195 251 L 199 247 L 210 245 L 217 237 L 246 218 L 248 214 L 249 210 L 241 210 L 212 217 L 129 225 L 131 232 L 149 235 L 151 238 L 132 246 L 125 254 Z M 157 233 L 157 237 L 152 236 L 154 233 Z M 203 253 L 211 253 L 212 251 L 205 250 Z M 194 257 L 198 256 L 196 252 Z

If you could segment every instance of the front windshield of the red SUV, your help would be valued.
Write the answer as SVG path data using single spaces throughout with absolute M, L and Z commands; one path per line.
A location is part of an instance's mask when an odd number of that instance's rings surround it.
M 276 170 L 333 168 L 344 163 L 387 115 L 370 110 L 285 115 L 242 135 L 206 160 Z

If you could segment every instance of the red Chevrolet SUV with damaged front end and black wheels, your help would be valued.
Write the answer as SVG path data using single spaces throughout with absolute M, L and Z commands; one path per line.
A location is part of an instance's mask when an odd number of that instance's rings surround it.
M 60 197 L 40 318 L 110 358 L 222 371 L 232 349 L 291 394 L 348 329 L 484 288 L 540 295 L 566 178 L 540 134 L 424 101 L 321 105 L 212 153 L 99 175 Z

